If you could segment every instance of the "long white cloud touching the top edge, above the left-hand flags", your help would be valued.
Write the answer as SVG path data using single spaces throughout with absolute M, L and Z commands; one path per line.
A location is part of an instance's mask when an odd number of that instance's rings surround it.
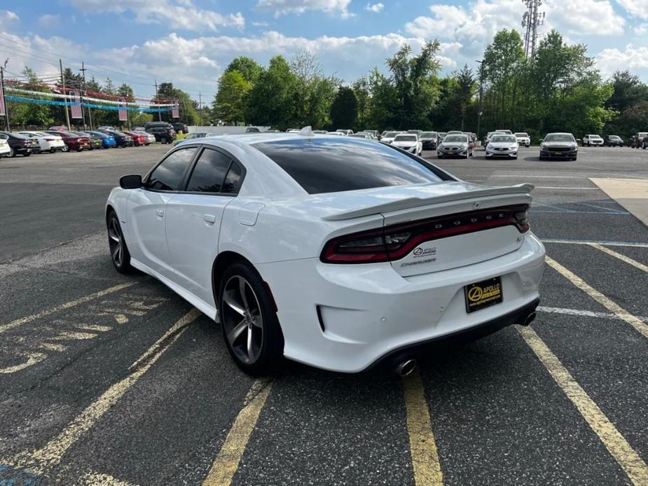
M 176 2 L 172 0 L 71 0 L 71 3 L 85 13 L 132 11 L 135 13 L 136 22 L 141 24 L 165 22 L 174 29 L 215 31 L 219 27 L 245 26 L 245 19 L 240 12 L 223 15 L 195 8 L 191 0 Z

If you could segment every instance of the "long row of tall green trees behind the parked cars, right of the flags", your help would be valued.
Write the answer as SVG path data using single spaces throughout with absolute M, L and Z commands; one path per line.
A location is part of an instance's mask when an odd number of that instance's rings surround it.
M 495 34 L 475 71 L 439 76 L 439 41 L 418 55 L 402 46 L 385 64 L 350 85 L 326 76 L 317 58 L 273 57 L 263 67 L 236 57 L 221 76 L 212 120 L 226 125 L 324 129 L 464 130 L 619 134 L 648 130 L 648 85 L 629 71 L 604 81 L 583 44 L 549 32 L 533 57 L 515 29 Z M 479 97 L 481 85 L 481 103 Z M 481 117 L 479 116 L 481 113 Z

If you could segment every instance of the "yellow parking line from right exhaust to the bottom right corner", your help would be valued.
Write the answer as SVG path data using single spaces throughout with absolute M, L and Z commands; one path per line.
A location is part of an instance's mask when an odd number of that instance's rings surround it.
M 578 384 L 567 368 L 560 363 L 551 349 L 547 347 L 539 335 L 530 327 L 518 327 L 527 344 L 544 365 L 549 374 L 556 381 L 558 387 L 565 392 L 577 410 L 584 417 L 591 429 L 619 466 L 625 471 L 634 485 L 648 485 L 648 466 L 637 452 L 630 446 L 626 438 L 609 421 L 598 405 L 588 396 L 586 391 Z

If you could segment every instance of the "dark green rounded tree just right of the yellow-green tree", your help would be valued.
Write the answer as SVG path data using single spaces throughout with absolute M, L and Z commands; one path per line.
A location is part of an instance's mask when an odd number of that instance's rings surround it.
M 284 57 L 273 57 L 246 97 L 244 116 L 247 123 L 282 130 L 296 123 L 297 86 L 297 78 Z

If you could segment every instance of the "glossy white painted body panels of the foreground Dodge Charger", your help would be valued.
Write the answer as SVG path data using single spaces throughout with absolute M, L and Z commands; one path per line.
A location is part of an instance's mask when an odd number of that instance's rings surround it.
M 217 319 L 212 264 L 223 251 L 240 254 L 273 293 L 284 356 L 347 373 L 364 370 L 400 347 L 478 326 L 537 300 L 544 247 L 532 232 L 513 226 L 424 241 L 404 258 L 385 263 L 320 259 L 333 237 L 530 204 L 532 186 L 438 181 L 309 194 L 254 148 L 259 142 L 299 138 L 306 137 L 247 134 L 195 141 L 192 145 L 227 151 L 244 167 L 235 197 L 113 188 L 107 204 L 121 222 L 132 265 Z M 205 214 L 214 221 L 206 221 Z M 467 313 L 464 286 L 492 277 L 502 279 L 502 303 Z

